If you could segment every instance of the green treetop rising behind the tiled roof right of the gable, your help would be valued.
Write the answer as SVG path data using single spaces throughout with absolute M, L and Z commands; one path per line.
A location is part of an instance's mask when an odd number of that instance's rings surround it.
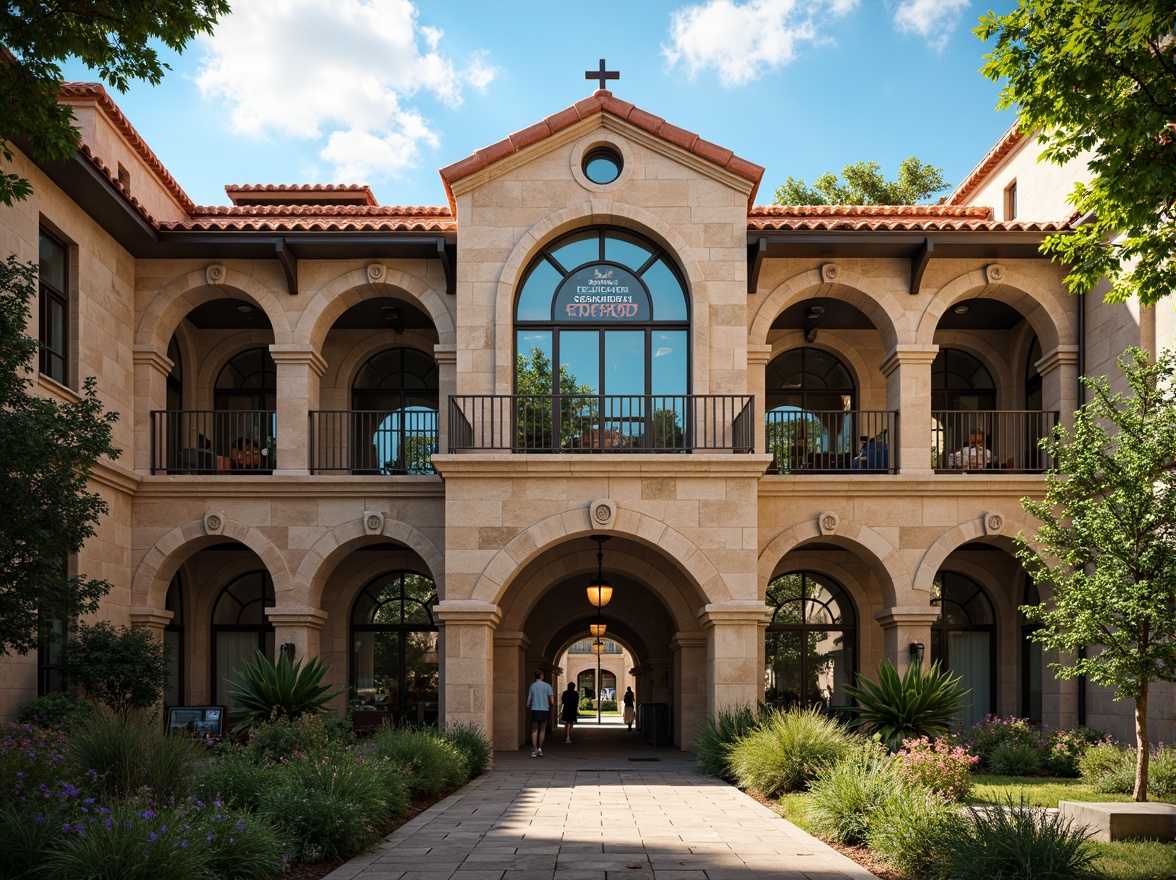
M 844 182 L 841 181 L 844 178 Z M 803 180 L 788 178 L 776 189 L 775 205 L 916 205 L 923 199 L 947 189 L 943 169 L 921 162 L 915 156 L 903 159 L 898 179 L 882 176 L 877 162 L 857 162 L 841 169 L 841 178 L 826 172 L 809 186 Z

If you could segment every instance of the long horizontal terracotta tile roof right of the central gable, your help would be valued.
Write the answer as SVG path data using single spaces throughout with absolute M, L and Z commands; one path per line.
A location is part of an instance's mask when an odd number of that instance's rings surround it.
M 993 220 L 993 209 L 958 205 L 767 205 L 751 208 L 748 229 L 895 229 L 917 232 L 1057 232 L 1065 222 Z

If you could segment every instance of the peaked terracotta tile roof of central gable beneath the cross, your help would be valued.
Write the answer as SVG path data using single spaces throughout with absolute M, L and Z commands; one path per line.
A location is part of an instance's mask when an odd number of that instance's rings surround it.
M 702 159 L 727 168 L 727 171 L 743 178 L 744 180 L 751 181 L 751 194 L 748 199 L 748 207 L 750 208 L 751 201 L 755 199 L 755 191 L 760 187 L 760 179 L 763 176 L 762 167 L 740 159 L 729 149 L 724 149 L 720 146 L 710 144 L 709 141 L 702 140 L 702 138 L 694 132 L 679 128 L 677 126 L 670 125 L 661 116 L 646 113 L 628 101 L 614 98 L 613 93 L 607 89 L 600 89 L 590 98 L 576 101 L 567 109 L 554 113 L 533 126 L 523 128 L 520 132 L 515 132 L 508 138 L 505 138 L 496 144 L 492 144 L 483 149 L 476 151 L 474 155 L 462 159 L 460 162 L 454 162 L 453 165 L 442 168 L 441 180 L 445 181 L 446 195 L 449 198 L 450 208 L 454 211 L 456 209 L 453 198 L 453 185 L 456 181 L 462 178 L 467 178 L 470 174 L 475 174 L 500 159 L 503 159 L 512 153 L 517 153 L 520 149 L 523 149 L 532 144 L 536 144 L 544 138 L 549 138 L 556 132 L 575 125 L 582 119 L 588 119 L 597 113 L 610 113 L 619 119 L 626 120 L 630 125 L 657 135 L 662 140 L 675 144 L 679 147 L 688 149 L 695 155 L 701 156 Z

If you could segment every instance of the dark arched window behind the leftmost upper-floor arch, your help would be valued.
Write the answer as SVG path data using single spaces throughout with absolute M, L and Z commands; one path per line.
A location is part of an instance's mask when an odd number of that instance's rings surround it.
M 216 449 L 228 449 L 233 469 L 272 469 L 275 455 L 278 375 L 268 348 L 234 355 L 216 376 L 213 436 Z

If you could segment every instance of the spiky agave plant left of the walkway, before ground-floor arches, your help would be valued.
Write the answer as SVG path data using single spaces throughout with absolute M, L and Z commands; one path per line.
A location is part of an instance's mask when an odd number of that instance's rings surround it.
M 233 727 L 233 733 L 275 718 L 294 720 L 301 715 L 318 715 L 347 689 L 321 684 L 329 668 L 316 656 L 306 666 L 301 660 L 290 662 L 285 652 L 274 664 L 259 651 L 258 661 L 246 662 L 238 673 L 238 689 L 228 692 L 247 712 Z

